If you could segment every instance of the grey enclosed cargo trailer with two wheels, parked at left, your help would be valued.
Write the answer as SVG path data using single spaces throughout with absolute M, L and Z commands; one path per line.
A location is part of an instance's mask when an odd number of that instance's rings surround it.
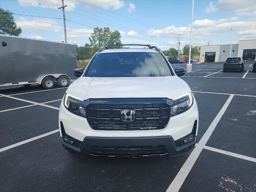
M 0 35 L 0 86 L 68 86 L 76 68 L 76 45 Z

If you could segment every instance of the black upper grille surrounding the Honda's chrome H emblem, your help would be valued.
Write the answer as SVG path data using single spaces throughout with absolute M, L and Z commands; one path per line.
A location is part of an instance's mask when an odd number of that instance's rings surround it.
M 121 110 L 135 110 L 135 120 L 123 122 Z M 86 118 L 94 130 L 154 130 L 163 129 L 170 119 L 170 106 L 152 104 L 89 104 Z

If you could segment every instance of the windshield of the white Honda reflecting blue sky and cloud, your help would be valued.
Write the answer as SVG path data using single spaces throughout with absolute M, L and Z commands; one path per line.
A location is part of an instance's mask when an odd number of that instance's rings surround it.
M 88 66 L 86 77 L 154 77 L 172 76 L 161 53 L 100 53 Z

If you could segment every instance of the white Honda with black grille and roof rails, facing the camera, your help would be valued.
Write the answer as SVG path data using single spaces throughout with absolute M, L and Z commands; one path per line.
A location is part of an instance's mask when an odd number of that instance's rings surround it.
M 101 48 L 85 70 L 74 71 L 79 78 L 60 104 L 63 147 L 82 156 L 188 152 L 196 143 L 198 108 L 179 78 L 184 74 L 155 46 Z

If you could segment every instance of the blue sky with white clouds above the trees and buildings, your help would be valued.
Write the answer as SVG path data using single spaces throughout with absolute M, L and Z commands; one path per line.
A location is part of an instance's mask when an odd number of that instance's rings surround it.
M 93 27 L 119 30 L 123 43 L 153 44 L 162 50 L 177 47 L 176 34 L 182 34 L 181 48 L 189 44 L 191 0 L 64 0 L 68 42 L 89 43 Z M 0 0 L 0 8 L 15 14 L 20 36 L 64 40 L 60 0 Z M 195 0 L 192 45 L 229 44 L 256 39 L 255 0 Z M 79 24 L 78 24 L 79 23 Z

